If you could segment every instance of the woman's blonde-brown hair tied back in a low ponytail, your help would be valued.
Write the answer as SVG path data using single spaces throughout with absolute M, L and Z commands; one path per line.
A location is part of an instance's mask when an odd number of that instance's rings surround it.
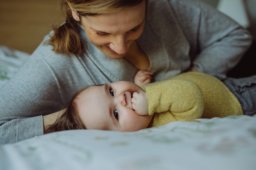
M 127 7 L 133 7 L 144 0 L 68 0 L 79 17 L 116 12 Z M 147 1 L 146 7 L 147 7 Z M 80 55 L 85 47 L 85 40 L 78 32 L 80 21 L 74 20 L 66 0 L 61 0 L 62 9 L 66 13 L 66 21 L 59 27 L 54 26 L 54 34 L 46 43 L 53 46 L 53 51 L 59 54 Z M 147 11 L 147 8 L 146 8 Z

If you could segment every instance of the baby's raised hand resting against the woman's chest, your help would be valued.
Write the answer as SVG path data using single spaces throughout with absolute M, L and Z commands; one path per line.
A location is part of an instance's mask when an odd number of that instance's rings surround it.
M 151 81 L 151 75 L 153 75 L 152 72 L 140 70 L 137 72 L 137 74 L 134 77 L 134 83 L 140 87 L 147 85 Z

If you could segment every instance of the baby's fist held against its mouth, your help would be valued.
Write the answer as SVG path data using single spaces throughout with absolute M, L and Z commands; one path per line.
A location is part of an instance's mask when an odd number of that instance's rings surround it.
M 132 108 L 138 115 L 148 114 L 148 98 L 147 93 L 134 92 L 131 98 Z

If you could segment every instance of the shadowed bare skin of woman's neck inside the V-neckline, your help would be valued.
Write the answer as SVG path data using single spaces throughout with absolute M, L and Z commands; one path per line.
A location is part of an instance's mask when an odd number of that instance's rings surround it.
M 136 41 L 131 43 L 123 59 L 139 70 L 148 70 L 150 66 L 147 54 L 140 48 Z

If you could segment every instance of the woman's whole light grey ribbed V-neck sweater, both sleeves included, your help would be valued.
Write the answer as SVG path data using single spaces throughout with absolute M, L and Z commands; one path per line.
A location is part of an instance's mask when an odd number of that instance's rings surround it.
M 79 31 L 87 40 L 82 27 Z M 225 75 L 249 47 L 251 37 L 203 3 L 149 0 L 144 30 L 136 41 L 149 57 L 155 82 L 186 71 L 191 63 L 200 72 Z M 0 144 L 42 135 L 42 115 L 60 110 L 80 88 L 133 82 L 138 71 L 124 59 L 108 58 L 88 40 L 88 48 L 72 57 L 54 53 L 43 42 L 0 88 Z

